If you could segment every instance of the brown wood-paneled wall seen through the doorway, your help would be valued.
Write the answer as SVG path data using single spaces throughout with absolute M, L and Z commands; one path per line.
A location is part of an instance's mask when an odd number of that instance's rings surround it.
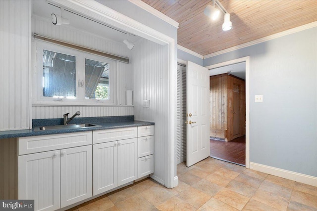
M 233 84 L 240 85 L 240 135 L 245 135 L 245 81 L 221 74 L 210 77 L 210 136 L 232 140 L 233 135 Z

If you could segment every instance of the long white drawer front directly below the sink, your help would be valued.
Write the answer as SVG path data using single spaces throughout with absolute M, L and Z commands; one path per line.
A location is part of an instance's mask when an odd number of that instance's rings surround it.
M 74 132 L 18 138 L 19 155 L 92 144 L 92 132 Z

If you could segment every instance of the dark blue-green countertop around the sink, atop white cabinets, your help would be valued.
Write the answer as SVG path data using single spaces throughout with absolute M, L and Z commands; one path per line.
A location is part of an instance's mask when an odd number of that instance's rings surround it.
M 78 120 L 80 118 L 77 118 Z M 83 118 L 84 119 L 84 118 Z M 75 120 L 75 119 L 74 119 Z M 99 121 L 103 119 L 99 118 Z M 155 125 L 153 122 L 143 122 L 143 121 L 134 121 L 134 117 L 126 118 L 124 121 L 118 121 L 120 119 L 116 118 L 115 121 L 107 122 L 97 122 L 98 120 L 93 118 L 85 118 L 86 123 L 93 123 L 96 125 L 100 125 L 101 127 L 92 127 L 92 128 L 81 128 L 81 129 L 56 129 L 56 130 L 42 130 L 42 131 L 34 131 L 34 127 L 36 126 L 48 126 L 49 124 L 46 123 L 44 125 L 40 125 L 41 123 L 33 123 L 32 129 L 23 129 L 23 130 L 7 130 L 7 131 L 0 131 L 0 139 L 1 138 L 17 138 L 17 137 L 26 137 L 26 136 L 36 136 L 36 135 L 50 135 L 50 134 L 59 134 L 59 133 L 70 133 L 70 132 L 83 132 L 83 131 L 92 131 L 92 130 L 102 130 L 102 129 L 114 129 L 114 128 L 123 128 L 123 127 L 140 127 L 140 126 L 150 126 Z M 117 121 L 117 122 L 116 122 Z M 46 120 L 48 122 L 48 120 Z M 81 123 L 80 123 L 81 122 Z M 38 125 L 39 124 L 39 125 Z M 82 121 L 77 121 L 77 123 L 71 124 L 82 124 Z

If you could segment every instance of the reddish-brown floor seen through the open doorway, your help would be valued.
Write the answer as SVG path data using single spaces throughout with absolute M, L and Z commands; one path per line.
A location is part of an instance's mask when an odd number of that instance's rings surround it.
M 246 136 L 232 141 L 210 139 L 210 156 L 239 165 L 246 165 Z

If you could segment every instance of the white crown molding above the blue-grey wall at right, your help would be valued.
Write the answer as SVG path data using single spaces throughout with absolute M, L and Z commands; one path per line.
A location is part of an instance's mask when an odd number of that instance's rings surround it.
M 217 56 L 217 55 L 220 55 L 220 54 L 223 54 L 223 53 L 228 53 L 228 52 L 231 52 L 231 51 L 234 51 L 234 50 L 238 50 L 238 49 L 241 49 L 241 48 L 244 48 L 244 47 L 248 47 L 248 46 L 251 46 L 251 45 L 254 45 L 254 44 L 259 44 L 261 42 L 270 41 L 270 40 L 273 40 L 273 39 L 276 39 L 276 38 L 280 38 L 280 37 L 283 37 L 283 36 L 286 36 L 286 35 L 290 35 L 290 34 L 293 34 L 293 33 L 296 33 L 296 32 L 301 32 L 301 31 L 304 31 L 306 29 L 310 29 L 310 28 L 314 28 L 314 27 L 317 27 L 317 21 L 309 23 L 309 24 L 305 24 L 303 26 L 299 26 L 299 27 L 296 27 L 296 28 L 293 28 L 293 29 L 289 29 L 289 30 L 286 30 L 286 31 L 283 31 L 283 32 L 279 32 L 279 33 L 276 33 L 274 35 L 270 35 L 270 36 L 267 36 L 267 37 L 264 37 L 264 38 L 260 38 L 260 39 L 255 40 L 255 41 L 251 41 L 251 42 L 239 44 L 239 45 L 236 45 L 236 46 L 233 46 L 233 47 L 229 47 L 227 49 L 219 50 L 217 52 L 205 55 L 204 59 L 211 58 L 213 56 Z

